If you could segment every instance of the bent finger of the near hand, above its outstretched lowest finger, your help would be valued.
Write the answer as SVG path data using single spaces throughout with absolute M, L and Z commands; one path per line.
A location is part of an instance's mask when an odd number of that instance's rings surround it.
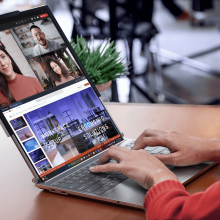
M 98 161 L 98 165 L 108 163 L 111 159 L 121 161 L 124 157 L 124 149 L 116 145 L 111 146 L 107 152 L 105 152 Z

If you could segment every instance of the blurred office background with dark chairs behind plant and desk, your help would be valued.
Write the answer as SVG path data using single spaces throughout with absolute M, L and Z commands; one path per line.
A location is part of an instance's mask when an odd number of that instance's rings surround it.
M 0 0 L 0 14 L 44 4 L 69 40 L 111 38 L 130 61 L 111 101 L 219 105 L 220 0 Z

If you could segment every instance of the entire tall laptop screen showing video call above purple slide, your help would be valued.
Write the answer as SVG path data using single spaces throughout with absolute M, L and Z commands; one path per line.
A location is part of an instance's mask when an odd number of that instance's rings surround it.
M 47 11 L 0 40 L 1 111 L 42 181 L 122 140 Z

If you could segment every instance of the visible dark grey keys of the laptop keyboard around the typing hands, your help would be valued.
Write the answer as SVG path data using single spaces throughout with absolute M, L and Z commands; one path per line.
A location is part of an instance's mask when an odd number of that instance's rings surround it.
M 126 149 L 131 149 L 134 146 L 134 141 L 129 142 L 123 146 Z M 146 147 L 145 150 L 150 154 L 169 154 L 170 151 L 165 147 Z M 117 161 L 111 160 L 111 163 Z M 51 184 L 54 187 L 71 190 L 75 192 L 92 193 L 101 195 L 106 191 L 112 189 L 118 184 L 122 183 L 127 176 L 120 172 L 105 172 L 105 173 L 91 173 L 89 168 L 97 165 L 98 160 L 86 165 L 85 167 L 69 174 L 63 179 Z

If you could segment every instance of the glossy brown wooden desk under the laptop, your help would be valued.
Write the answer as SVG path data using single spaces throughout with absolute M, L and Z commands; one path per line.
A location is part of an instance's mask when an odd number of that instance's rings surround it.
M 220 108 L 206 106 L 106 104 L 125 137 L 137 138 L 145 128 L 175 130 L 203 138 L 220 138 Z M 131 117 L 132 116 L 132 117 Z M 10 138 L 0 129 L 1 219 L 145 219 L 144 211 L 74 196 L 41 191 Z M 189 193 L 220 180 L 220 165 L 186 186 Z

